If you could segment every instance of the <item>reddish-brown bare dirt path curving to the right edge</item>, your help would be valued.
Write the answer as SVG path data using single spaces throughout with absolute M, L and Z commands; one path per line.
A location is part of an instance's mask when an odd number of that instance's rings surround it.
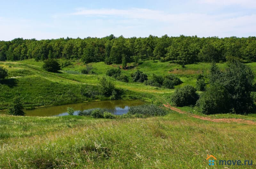
M 221 119 L 215 119 L 215 118 L 210 118 L 210 117 L 204 117 L 204 116 L 200 116 L 200 115 L 196 115 L 196 114 L 191 114 L 188 112 L 184 112 L 176 107 L 172 107 L 169 103 L 167 103 L 166 105 L 164 104 L 164 107 L 167 107 L 175 112 L 181 113 L 181 114 L 188 114 L 191 117 L 195 117 L 197 119 L 201 119 L 201 120 L 207 120 L 207 121 L 213 121 L 213 122 L 226 122 L 226 123 L 230 123 L 230 122 L 236 122 L 236 123 L 245 123 L 245 124 L 254 124 L 256 125 L 255 121 L 251 121 L 251 120 L 244 120 L 244 119 L 236 119 L 236 118 L 221 118 Z

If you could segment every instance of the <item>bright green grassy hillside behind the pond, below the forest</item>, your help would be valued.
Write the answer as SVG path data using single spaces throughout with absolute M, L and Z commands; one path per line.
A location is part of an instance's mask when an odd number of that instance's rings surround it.
M 59 60 L 60 64 L 67 62 Z M 94 68 L 96 75 L 81 74 L 81 70 L 85 65 L 79 61 L 71 61 L 71 64 L 62 68 L 60 73 L 50 73 L 42 69 L 43 62 L 36 62 L 34 59 L 23 60 L 19 62 L 0 62 L 8 70 L 8 79 L 1 82 L 0 109 L 6 109 L 12 97 L 20 95 L 24 98 L 25 107 L 44 106 L 44 105 L 60 105 L 74 102 L 82 102 L 86 100 L 79 94 L 79 87 L 95 86 L 98 84 L 98 78 L 105 76 L 106 71 L 120 65 L 106 65 L 103 62 L 90 63 Z M 131 63 L 132 65 L 132 63 Z M 248 63 L 252 68 L 256 68 L 256 63 Z M 224 69 L 226 63 L 219 63 L 218 66 Z M 184 85 L 196 85 L 196 75 L 207 74 L 210 63 L 189 64 L 182 68 L 178 64 L 169 62 L 153 62 L 144 61 L 138 67 L 131 70 L 122 70 L 122 73 L 130 77 L 130 74 L 136 70 L 141 70 L 152 78 L 152 74 L 167 75 L 169 73 L 176 74 L 183 83 L 176 87 Z M 256 71 L 256 69 L 253 69 Z M 149 96 L 153 101 L 163 100 L 163 95 L 168 95 L 174 89 L 158 88 L 144 85 L 138 82 L 120 82 L 114 78 L 108 77 L 113 81 L 117 88 L 135 92 L 138 98 L 143 95 Z M 131 81 L 131 77 L 130 77 Z M 64 92 L 63 92 L 64 91 Z M 49 93 L 51 93 L 49 95 Z M 131 96 L 128 94 L 127 97 Z M 160 97 L 160 98 L 159 98 Z M 146 98 L 146 97 L 145 97 Z M 101 98 L 103 99 L 103 98 Z M 151 100 L 150 100 L 151 101 Z

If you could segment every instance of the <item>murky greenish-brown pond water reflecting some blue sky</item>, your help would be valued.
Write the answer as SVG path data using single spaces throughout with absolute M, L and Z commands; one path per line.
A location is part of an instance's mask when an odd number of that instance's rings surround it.
M 130 106 L 145 104 L 142 100 L 105 100 L 84 103 L 75 103 L 60 106 L 39 107 L 34 110 L 24 110 L 26 116 L 64 116 L 68 115 L 67 108 L 73 107 L 74 115 L 80 110 L 90 110 L 93 108 L 106 108 L 109 112 L 116 115 L 126 114 Z

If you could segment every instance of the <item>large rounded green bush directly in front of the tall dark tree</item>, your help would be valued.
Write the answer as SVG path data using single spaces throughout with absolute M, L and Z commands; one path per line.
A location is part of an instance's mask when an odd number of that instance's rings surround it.
M 227 113 L 231 109 L 228 90 L 220 84 L 211 85 L 202 93 L 196 105 L 203 114 Z

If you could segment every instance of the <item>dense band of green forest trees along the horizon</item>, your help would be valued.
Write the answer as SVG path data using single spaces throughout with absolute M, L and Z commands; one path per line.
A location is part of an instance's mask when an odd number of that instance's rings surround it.
M 87 37 L 36 40 L 16 38 L 0 41 L 0 60 L 36 61 L 65 58 L 81 59 L 85 63 L 107 64 L 137 62 L 138 59 L 171 61 L 181 65 L 195 62 L 225 62 L 229 58 L 256 61 L 256 37 L 207 37 L 197 36 L 162 37 L 149 35 L 146 38 Z

